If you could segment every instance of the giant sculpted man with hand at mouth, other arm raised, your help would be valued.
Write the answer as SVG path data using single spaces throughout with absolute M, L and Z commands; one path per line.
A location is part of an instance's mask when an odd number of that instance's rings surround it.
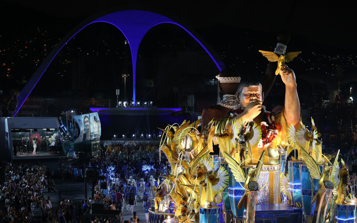
M 246 158 L 259 159 L 264 150 L 265 162 L 272 164 L 278 163 L 278 146 L 287 145 L 287 127 L 291 124 L 295 128 L 300 126 L 300 102 L 295 73 L 287 65 L 283 65 L 279 74 L 285 84 L 285 103 L 282 112 L 278 114 L 267 112 L 262 105 L 263 92 L 260 82 L 246 80 L 238 87 L 236 97 L 239 104 L 234 108 L 235 117 L 227 124 L 229 131 L 232 123 L 246 125 L 255 122 L 260 125 L 263 132 L 262 141 L 255 148 L 250 149 Z

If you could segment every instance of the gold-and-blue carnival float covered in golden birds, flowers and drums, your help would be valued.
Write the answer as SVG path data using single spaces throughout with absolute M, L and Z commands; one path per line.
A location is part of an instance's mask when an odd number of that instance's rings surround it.
M 277 73 L 299 53 L 284 58 L 262 51 L 278 61 Z M 202 131 L 197 130 L 201 120 L 161 129 L 160 151 L 171 174 L 161 176 L 151 223 L 355 222 L 348 167 L 338 152 L 322 154 L 312 118 L 307 128 L 301 118 L 295 123 L 286 118 L 291 112 L 286 106 L 272 112 L 262 108 L 247 120 L 239 118 L 241 109 L 234 110 Z M 219 155 L 210 155 L 213 145 Z

